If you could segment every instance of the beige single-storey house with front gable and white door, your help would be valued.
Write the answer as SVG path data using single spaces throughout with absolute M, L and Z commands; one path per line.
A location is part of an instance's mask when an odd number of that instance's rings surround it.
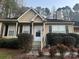
M 18 19 L 0 19 L 0 35 L 3 38 L 17 38 L 19 33 L 31 33 L 34 36 L 33 46 L 43 48 L 47 33 L 76 33 L 74 24 L 73 21 L 45 19 L 34 9 L 29 9 Z

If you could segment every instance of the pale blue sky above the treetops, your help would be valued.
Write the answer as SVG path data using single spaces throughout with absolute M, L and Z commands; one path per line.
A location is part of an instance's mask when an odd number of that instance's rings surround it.
M 76 3 L 79 3 L 79 0 L 24 0 L 23 2 L 24 6 L 33 8 L 41 6 L 44 8 L 48 7 L 49 9 L 52 9 L 53 7 L 57 9 L 64 6 L 70 6 L 73 8 Z

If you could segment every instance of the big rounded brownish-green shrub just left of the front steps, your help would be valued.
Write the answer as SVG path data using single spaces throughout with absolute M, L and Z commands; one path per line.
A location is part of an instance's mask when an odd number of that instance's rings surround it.
M 21 33 L 18 35 L 20 47 L 24 52 L 28 53 L 32 49 L 33 36 L 28 33 Z

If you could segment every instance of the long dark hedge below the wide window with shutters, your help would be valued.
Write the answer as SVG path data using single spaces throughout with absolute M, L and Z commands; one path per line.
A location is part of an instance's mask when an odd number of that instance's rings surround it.
M 79 44 L 79 35 L 73 33 L 48 33 L 46 35 L 47 45 L 65 44 L 77 47 Z

